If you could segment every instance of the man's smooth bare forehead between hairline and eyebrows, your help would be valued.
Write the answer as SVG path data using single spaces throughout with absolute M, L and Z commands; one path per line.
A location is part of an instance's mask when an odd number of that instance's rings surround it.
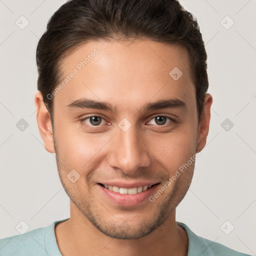
M 187 51 L 177 44 L 89 41 L 66 56 L 60 69 L 63 86 L 54 101 L 62 105 L 86 97 L 127 108 L 150 99 L 195 97 Z

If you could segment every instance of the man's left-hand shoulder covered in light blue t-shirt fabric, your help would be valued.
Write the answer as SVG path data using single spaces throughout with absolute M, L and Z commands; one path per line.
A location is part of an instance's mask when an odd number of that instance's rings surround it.
M 48 256 L 50 252 L 58 251 L 54 235 L 54 226 L 60 221 L 63 220 L 55 221 L 46 227 L 39 227 L 24 234 L 17 234 L 0 239 L 0 256 Z M 54 255 L 56 255 L 56 253 Z

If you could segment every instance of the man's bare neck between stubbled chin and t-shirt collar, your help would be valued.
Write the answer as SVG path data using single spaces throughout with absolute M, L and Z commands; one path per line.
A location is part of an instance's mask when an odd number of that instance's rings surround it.
M 70 202 L 70 218 L 55 226 L 55 236 L 63 256 L 187 255 L 188 238 L 175 221 L 175 211 L 158 228 L 139 239 L 116 239 L 99 231 Z

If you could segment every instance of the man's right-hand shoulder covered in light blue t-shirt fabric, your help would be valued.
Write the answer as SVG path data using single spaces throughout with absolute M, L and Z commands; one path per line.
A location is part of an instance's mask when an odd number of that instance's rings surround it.
M 214 256 L 214 255 L 225 255 L 225 256 L 249 256 L 233 250 L 221 243 L 214 242 L 203 238 L 193 233 L 187 225 L 181 222 L 177 222 L 187 233 L 188 236 L 188 256 L 200 255 L 200 256 Z

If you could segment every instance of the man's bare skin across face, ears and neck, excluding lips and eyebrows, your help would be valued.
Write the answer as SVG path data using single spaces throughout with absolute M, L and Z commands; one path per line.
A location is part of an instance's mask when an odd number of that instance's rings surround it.
M 206 94 L 198 123 L 186 49 L 150 40 L 80 45 L 63 59 L 63 78 L 94 48 L 99 51 L 95 57 L 53 97 L 54 130 L 41 93 L 35 95 L 40 135 L 45 149 L 56 153 L 59 177 L 70 198 L 70 218 L 55 226 L 60 252 L 187 255 L 187 235 L 175 222 L 175 208 L 190 185 L 194 162 L 154 202 L 136 206 L 109 201 L 97 183 L 153 179 L 162 187 L 205 146 L 212 97 Z M 183 73 L 178 80 L 169 75 L 174 67 Z M 108 102 L 117 112 L 67 107 L 83 97 Z M 186 107 L 139 110 L 167 98 L 182 100 Z M 81 121 L 88 116 L 103 119 L 99 125 L 90 118 Z M 157 116 L 166 116 L 165 123 L 159 124 Z M 123 118 L 131 124 L 126 131 L 118 126 Z M 80 175 L 74 183 L 66 177 L 72 169 Z

